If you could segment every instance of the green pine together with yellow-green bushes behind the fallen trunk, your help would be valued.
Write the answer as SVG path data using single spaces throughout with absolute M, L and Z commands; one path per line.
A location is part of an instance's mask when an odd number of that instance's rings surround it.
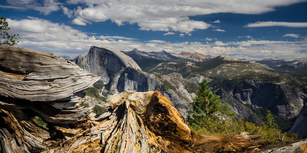
M 256 126 L 248 121 L 244 122 L 241 118 L 235 121 L 235 114 L 231 112 L 229 106 L 223 103 L 219 96 L 210 93 L 206 80 L 202 80 L 191 105 L 193 110 L 189 112 L 187 121 L 194 132 L 204 135 L 248 132 L 250 135 L 261 135 L 265 141 L 278 141 L 278 133 L 274 129 L 277 124 L 274 123 L 274 116 L 270 111 L 264 112 L 266 122 L 262 126 Z M 261 109 L 250 108 L 258 114 L 264 114 Z M 221 117 L 226 117 L 226 119 Z M 282 133 L 281 129 L 277 131 Z M 284 138 L 286 141 L 296 139 L 297 134 L 287 134 Z

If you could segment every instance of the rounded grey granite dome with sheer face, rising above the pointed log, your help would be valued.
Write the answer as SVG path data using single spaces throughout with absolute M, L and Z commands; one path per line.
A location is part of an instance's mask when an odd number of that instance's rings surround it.
M 109 47 L 92 46 L 88 54 L 81 54 L 74 62 L 81 68 L 101 76 L 103 82 L 109 82 L 113 75 L 127 67 L 141 70 L 132 58 Z

